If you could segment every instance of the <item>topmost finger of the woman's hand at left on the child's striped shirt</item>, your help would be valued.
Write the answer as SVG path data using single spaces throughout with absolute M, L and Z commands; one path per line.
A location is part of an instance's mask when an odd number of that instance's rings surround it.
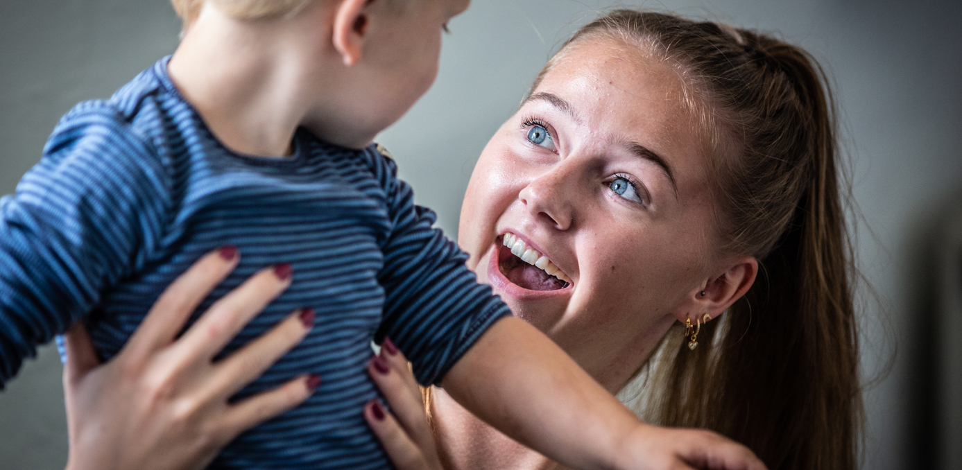
M 230 274 L 240 259 L 237 247 L 223 246 L 194 262 L 165 288 L 126 348 L 149 353 L 170 344 L 184 328 L 190 313 Z

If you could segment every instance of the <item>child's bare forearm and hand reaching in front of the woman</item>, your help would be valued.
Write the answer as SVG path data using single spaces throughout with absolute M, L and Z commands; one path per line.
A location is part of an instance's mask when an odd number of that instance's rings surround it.
M 572 468 L 765 468 L 747 448 L 717 434 L 640 422 L 518 318 L 495 323 L 442 384 L 494 428 Z

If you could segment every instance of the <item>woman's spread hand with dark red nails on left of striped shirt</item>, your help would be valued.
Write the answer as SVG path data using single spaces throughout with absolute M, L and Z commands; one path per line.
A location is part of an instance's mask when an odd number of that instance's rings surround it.
M 198 260 L 165 290 L 123 350 L 100 364 L 83 325 L 66 334 L 63 369 L 68 470 L 203 468 L 241 432 L 306 400 L 316 376 L 229 404 L 228 398 L 291 350 L 313 326 L 295 311 L 225 359 L 230 339 L 290 279 L 265 269 L 218 300 L 179 338 L 190 313 L 237 266 L 231 248 Z

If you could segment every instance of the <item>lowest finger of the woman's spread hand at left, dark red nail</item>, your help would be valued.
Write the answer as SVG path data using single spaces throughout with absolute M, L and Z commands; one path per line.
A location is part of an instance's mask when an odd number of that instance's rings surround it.
M 301 376 L 273 390 L 254 395 L 231 405 L 218 428 L 233 439 L 266 420 L 294 408 L 307 400 L 320 384 L 317 376 Z

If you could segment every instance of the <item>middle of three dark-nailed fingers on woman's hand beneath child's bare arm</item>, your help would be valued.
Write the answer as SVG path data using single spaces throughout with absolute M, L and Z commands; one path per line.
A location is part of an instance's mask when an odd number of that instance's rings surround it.
M 383 351 L 383 349 L 382 349 Z M 411 374 L 404 367 L 405 374 Z M 424 413 L 424 402 L 421 400 L 417 383 L 414 390 L 409 383 L 402 378 L 402 374 L 392 368 L 387 361 L 380 357 L 371 359 L 367 365 L 368 373 L 381 389 L 384 398 L 391 406 L 392 414 L 410 438 L 418 443 L 421 448 L 432 448 L 434 446 L 434 435 L 427 423 Z M 387 372 L 385 372 L 387 370 Z

